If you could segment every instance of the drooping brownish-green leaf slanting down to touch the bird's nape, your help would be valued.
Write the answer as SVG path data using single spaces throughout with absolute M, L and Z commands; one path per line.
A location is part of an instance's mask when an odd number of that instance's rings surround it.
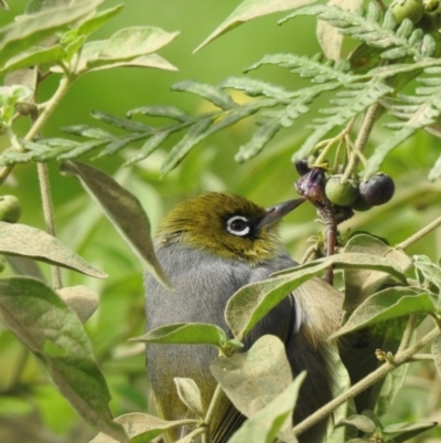
M 154 253 L 150 236 L 150 221 L 139 200 L 107 173 L 90 166 L 64 161 L 60 169 L 80 181 L 122 238 L 143 260 L 148 271 L 164 286 L 171 287 Z

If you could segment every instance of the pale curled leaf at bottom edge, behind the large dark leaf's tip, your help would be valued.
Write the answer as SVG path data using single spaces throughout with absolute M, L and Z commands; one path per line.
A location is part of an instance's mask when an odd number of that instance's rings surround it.
M 143 414 L 141 412 L 132 412 L 129 414 L 120 415 L 115 419 L 115 422 L 120 424 L 130 437 L 130 443 L 148 443 L 161 435 L 169 429 L 179 428 L 182 425 L 194 424 L 196 420 L 175 420 L 165 421 L 158 416 Z M 115 440 L 105 433 L 99 433 L 89 443 L 117 443 Z

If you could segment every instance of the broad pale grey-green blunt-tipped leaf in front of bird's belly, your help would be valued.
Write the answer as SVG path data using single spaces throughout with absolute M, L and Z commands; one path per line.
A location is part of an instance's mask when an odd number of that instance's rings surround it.
M 232 357 L 217 357 L 209 366 L 235 408 L 249 418 L 268 405 L 292 382 L 282 341 L 260 337 L 252 347 Z

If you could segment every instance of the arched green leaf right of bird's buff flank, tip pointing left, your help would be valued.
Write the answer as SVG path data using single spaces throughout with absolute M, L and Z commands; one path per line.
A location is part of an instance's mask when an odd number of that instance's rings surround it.
M 432 297 L 420 288 L 390 287 L 373 294 L 359 305 L 332 338 L 379 321 L 418 313 L 433 314 L 434 310 Z

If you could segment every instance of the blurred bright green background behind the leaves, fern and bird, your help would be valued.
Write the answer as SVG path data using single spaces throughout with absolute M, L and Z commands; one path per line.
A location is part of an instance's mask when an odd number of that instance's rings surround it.
M 104 7 L 121 3 L 108 0 Z M 320 51 L 315 39 L 315 20 L 301 18 L 277 25 L 273 14 L 246 23 L 220 36 L 200 52 L 193 50 L 234 10 L 237 0 L 132 0 L 123 2 L 122 12 L 92 39 L 108 38 L 115 31 L 133 25 L 154 25 L 181 34 L 159 51 L 179 72 L 158 70 L 116 68 L 88 74 L 79 78 L 62 102 L 44 129 L 47 137 L 62 136 L 60 127 L 74 124 L 96 124 L 89 117 L 92 109 L 123 116 L 131 108 L 165 104 L 180 106 L 190 113 L 209 109 L 196 96 L 170 89 L 173 83 L 197 80 L 216 84 L 228 76 L 243 75 L 244 68 L 268 53 L 294 52 L 312 55 Z M 0 25 L 23 13 L 26 1 L 10 1 L 11 11 L 0 11 Z M 354 46 L 348 42 L 347 54 Z M 298 88 L 306 82 L 281 67 L 262 67 L 250 74 L 287 88 Z M 58 78 L 49 78 L 41 88 L 41 99 L 50 97 Z M 323 97 L 321 104 L 326 104 Z M 308 134 L 308 114 L 292 128 L 282 130 L 265 151 L 246 164 L 238 165 L 234 155 L 254 130 L 254 122 L 245 120 L 233 128 L 208 138 L 197 146 L 184 162 L 169 176 L 160 179 L 160 165 L 175 136 L 163 149 L 140 164 L 121 168 L 136 146 L 121 155 L 92 161 L 132 191 L 148 212 L 153 231 L 159 220 L 174 204 L 204 191 L 233 191 L 262 205 L 295 197 L 293 182 L 298 175 L 290 160 L 292 152 Z M 151 120 L 150 120 L 151 122 Z M 21 129 L 25 130 L 23 123 Z M 370 149 L 385 137 L 381 120 L 372 138 Z M 0 148 L 7 148 L 0 138 Z M 394 177 L 397 192 L 386 205 L 366 213 L 356 213 L 341 230 L 369 231 L 398 243 L 440 214 L 441 182 L 430 183 L 427 175 L 441 152 L 441 141 L 421 131 L 390 155 L 384 171 Z M 367 151 L 367 154 L 369 150 Z M 79 183 L 58 173 L 58 165 L 50 165 L 60 239 L 96 267 L 107 272 L 105 281 L 63 274 L 64 284 L 85 284 L 101 297 L 100 306 L 87 321 L 86 329 L 94 350 L 108 380 L 116 415 L 147 410 L 144 357 L 139 346 L 128 338 L 141 335 L 144 328 L 142 265 L 120 240 L 118 233 L 90 201 Z M 13 193 L 23 203 L 21 222 L 43 228 L 43 215 L 34 165 L 17 166 L 3 186 L 2 193 Z M 290 214 L 281 226 L 281 234 L 294 259 L 300 260 L 308 247 L 308 238 L 321 230 L 314 223 L 312 205 L 302 205 Z M 427 254 L 432 260 L 441 255 L 440 230 L 408 251 Z M 47 268 L 42 266 L 45 275 Z M 77 418 L 67 402 L 49 382 L 39 362 L 8 331 L 0 331 L 0 442 L 86 442 L 95 431 Z M 418 369 L 418 370 L 417 370 Z M 391 420 L 437 420 L 440 403 L 440 383 L 429 367 L 417 368 L 402 391 Z M 408 392 L 408 393 L 406 393 Z M 416 398 L 426 399 L 417 402 Z M 427 399 L 430 399 L 428 401 Z M 394 414 L 396 416 L 394 416 Z M 433 434 L 434 435 L 434 434 Z M 422 440 L 419 440 L 422 441 Z M 429 441 L 429 440 L 426 440 Z M 434 441 L 434 440 L 433 440 Z

